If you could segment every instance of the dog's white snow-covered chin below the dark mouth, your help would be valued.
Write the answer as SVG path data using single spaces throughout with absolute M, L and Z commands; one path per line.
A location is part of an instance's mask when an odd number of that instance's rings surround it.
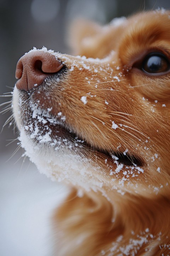
M 30 138 L 30 134 L 24 129 L 20 130 L 19 140 L 24 155 L 34 162 L 39 171 L 50 177 L 53 181 L 64 181 L 73 186 L 80 186 L 86 191 L 97 191 L 103 185 L 102 176 L 96 180 L 95 174 L 99 167 L 94 167 L 92 161 L 83 154 L 78 154 L 74 149 L 62 147 L 55 150 L 48 142 L 39 143 Z M 87 183 L 88 177 L 88 183 Z

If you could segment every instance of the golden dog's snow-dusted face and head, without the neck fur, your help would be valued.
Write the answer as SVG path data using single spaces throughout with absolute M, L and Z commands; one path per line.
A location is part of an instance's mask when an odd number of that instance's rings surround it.
M 34 48 L 20 59 L 13 113 L 41 172 L 107 196 L 169 190 L 169 15 L 80 22 L 72 44 L 86 57 Z

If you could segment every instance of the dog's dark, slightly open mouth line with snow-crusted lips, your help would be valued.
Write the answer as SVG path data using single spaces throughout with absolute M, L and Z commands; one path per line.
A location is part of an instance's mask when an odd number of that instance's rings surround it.
M 23 100 L 24 104 L 21 109 L 22 127 L 34 143 L 37 145 L 48 143 L 54 150 L 74 150 L 76 153 L 92 153 L 101 156 L 102 159 L 117 160 L 126 166 L 143 167 L 145 163 L 135 155 L 130 155 L 121 151 L 108 151 L 99 149 L 90 145 L 84 138 L 73 132 L 67 127 L 66 117 L 59 112 L 58 116 L 53 116 L 50 109 L 43 110 L 31 101 Z M 29 102 L 29 103 L 28 103 Z

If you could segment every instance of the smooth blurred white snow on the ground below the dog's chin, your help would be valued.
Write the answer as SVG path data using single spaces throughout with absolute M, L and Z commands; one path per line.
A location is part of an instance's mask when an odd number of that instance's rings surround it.
M 39 174 L 21 155 L 0 155 L 0 255 L 49 256 L 50 217 L 66 188 Z M 28 167 L 29 166 L 29 167 Z

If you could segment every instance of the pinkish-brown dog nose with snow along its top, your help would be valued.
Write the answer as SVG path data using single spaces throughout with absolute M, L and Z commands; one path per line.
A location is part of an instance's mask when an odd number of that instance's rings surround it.
M 23 55 L 16 66 L 17 89 L 30 91 L 50 75 L 57 73 L 63 64 L 54 55 L 36 51 Z

